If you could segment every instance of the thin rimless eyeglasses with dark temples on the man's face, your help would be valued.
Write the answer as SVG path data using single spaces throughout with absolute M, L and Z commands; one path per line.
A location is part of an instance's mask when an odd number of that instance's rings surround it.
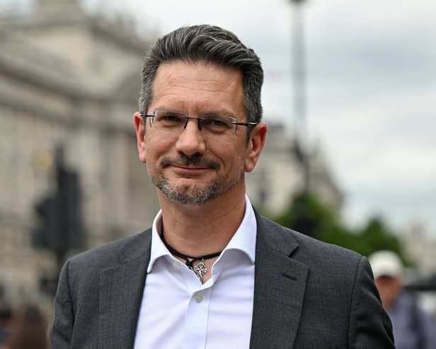
M 203 135 L 234 135 L 238 125 L 254 127 L 258 122 L 238 122 L 235 118 L 222 115 L 202 115 L 200 118 L 192 118 L 184 113 L 173 110 L 154 110 L 151 115 L 142 114 L 144 124 L 147 118 L 153 130 L 166 133 L 179 134 L 188 125 L 190 119 L 197 120 L 198 130 Z

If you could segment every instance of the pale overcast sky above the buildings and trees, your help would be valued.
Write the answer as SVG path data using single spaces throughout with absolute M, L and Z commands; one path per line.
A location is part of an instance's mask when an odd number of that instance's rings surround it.
M 234 31 L 263 62 L 265 121 L 292 127 L 289 0 L 81 2 L 128 14 L 142 32 Z M 303 15 L 309 135 L 345 191 L 346 222 L 421 219 L 436 236 L 436 1 L 311 0 Z

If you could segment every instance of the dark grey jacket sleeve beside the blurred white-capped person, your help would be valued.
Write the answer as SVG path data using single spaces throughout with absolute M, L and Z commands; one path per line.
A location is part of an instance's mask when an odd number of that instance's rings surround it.
M 395 348 L 391 320 L 381 306 L 367 258 L 357 267 L 350 307 L 349 348 Z

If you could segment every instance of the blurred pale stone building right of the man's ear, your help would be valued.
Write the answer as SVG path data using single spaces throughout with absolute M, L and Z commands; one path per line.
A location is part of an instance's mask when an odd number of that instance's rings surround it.
M 297 140 L 285 125 L 268 122 L 260 161 L 247 176 L 247 191 L 253 204 L 267 208 L 268 212 L 281 212 L 289 205 L 291 196 L 307 186 L 323 204 L 340 212 L 343 192 L 328 168 L 326 157 L 319 145 L 309 144 L 308 148 L 303 160 L 302 149 L 297 149 Z

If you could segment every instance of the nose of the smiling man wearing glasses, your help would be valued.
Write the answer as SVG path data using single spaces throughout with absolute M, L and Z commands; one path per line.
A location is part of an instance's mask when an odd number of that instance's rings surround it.
M 187 120 L 185 128 L 178 136 L 176 151 L 186 156 L 193 156 L 196 153 L 204 154 L 206 150 L 205 139 L 203 139 L 198 126 L 197 120 Z

